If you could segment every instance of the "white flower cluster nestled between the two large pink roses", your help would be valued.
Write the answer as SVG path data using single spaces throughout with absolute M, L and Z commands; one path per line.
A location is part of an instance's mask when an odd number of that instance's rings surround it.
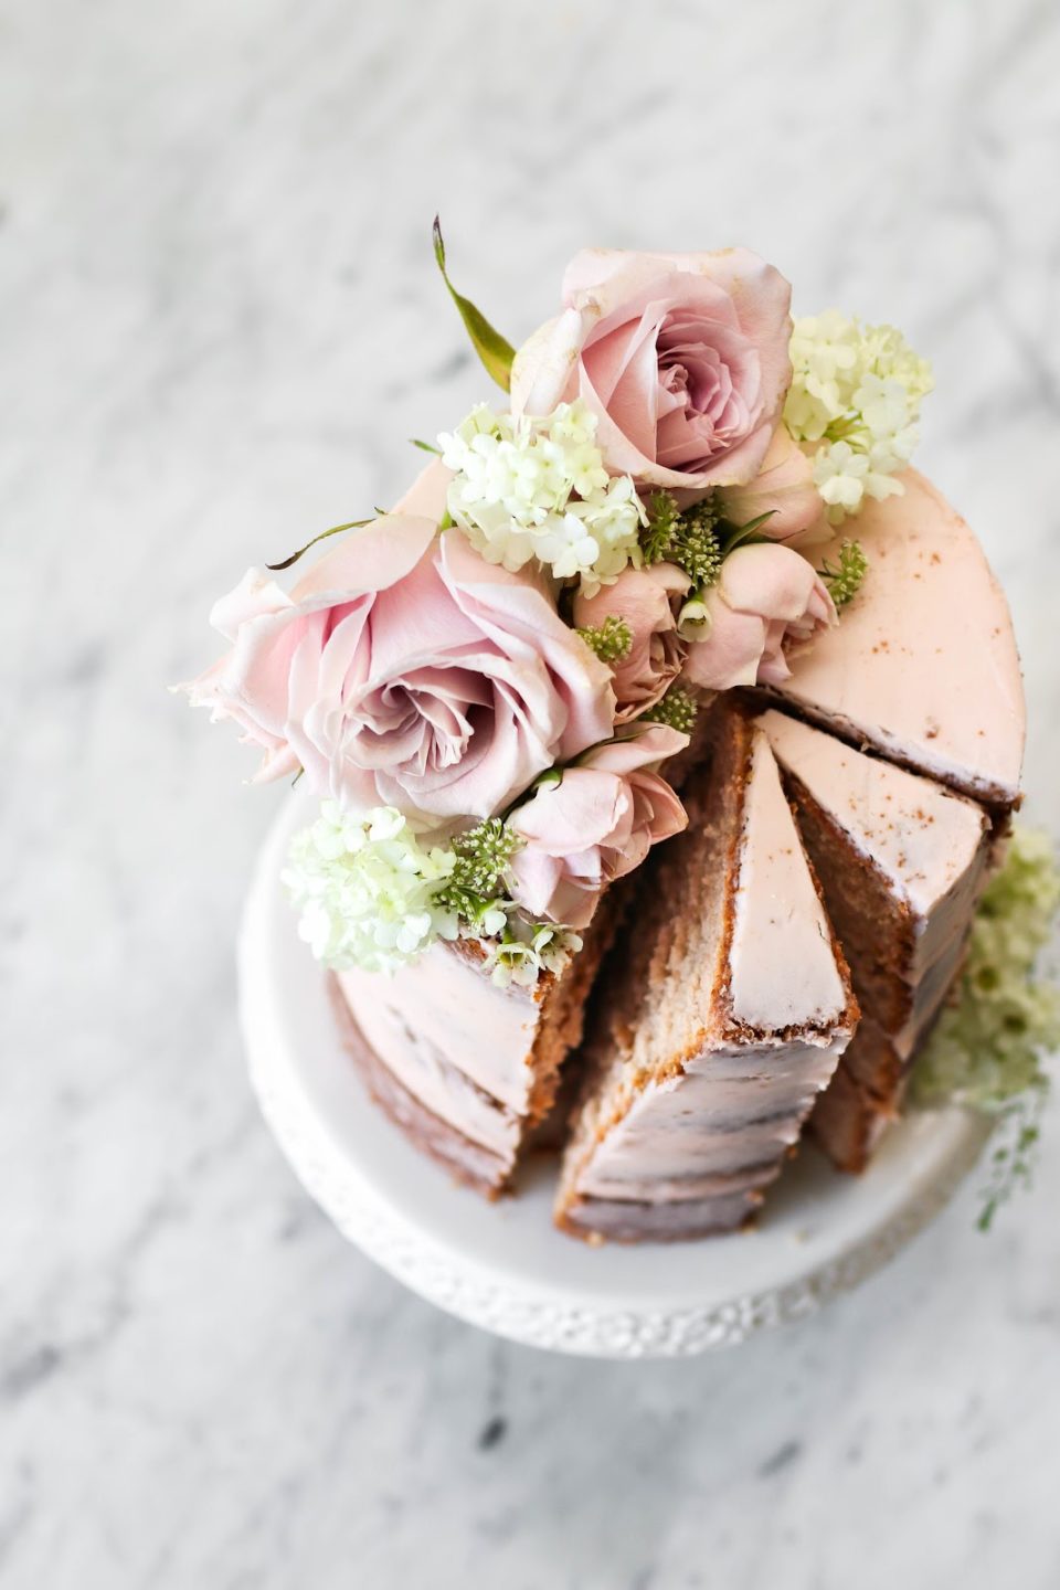
M 489 563 L 515 572 L 536 558 L 591 596 L 640 561 L 644 507 L 629 475 L 604 469 L 583 402 L 542 420 L 478 404 L 439 445 L 456 472 L 450 517 Z

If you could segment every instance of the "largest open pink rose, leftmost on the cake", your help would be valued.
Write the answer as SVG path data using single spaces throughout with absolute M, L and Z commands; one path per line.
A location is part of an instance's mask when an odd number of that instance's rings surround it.
M 389 514 L 345 536 L 288 596 L 253 571 L 218 604 L 232 641 L 192 703 L 353 809 L 486 817 L 612 733 L 609 668 L 551 596 L 459 531 Z

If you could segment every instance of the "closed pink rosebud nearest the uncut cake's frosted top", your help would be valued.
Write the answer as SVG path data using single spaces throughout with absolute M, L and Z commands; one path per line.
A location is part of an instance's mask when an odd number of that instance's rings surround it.
M 776 542 L 737 547 L 707 591 L 707 630 L 688 647 L 685 677 L 701 690 L 780 684 L 791 673 L 785 644 L 836 622 L 823 580 L 798 552 Z

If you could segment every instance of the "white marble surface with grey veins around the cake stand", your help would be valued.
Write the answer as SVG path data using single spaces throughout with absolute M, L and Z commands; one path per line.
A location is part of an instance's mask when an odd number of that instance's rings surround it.
M 281 798 L 164 695 L 251 561 L 478 394 L 586 242 L 749 243 L 936 364 L 1057 817 L 1055 6 L 2 0 L 0 1582 L 1060 1582 L 1060 1110 L 825 1317 L 502 1345 L 348 1250 L 262 1127 L 232 943 Z M 958 593 L 955 593 L 957 599 Z M 13 765 L 11 765 L 13 762 Z

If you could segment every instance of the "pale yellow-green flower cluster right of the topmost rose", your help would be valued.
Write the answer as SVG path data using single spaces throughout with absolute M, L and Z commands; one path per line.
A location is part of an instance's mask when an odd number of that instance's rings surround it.
M 920 401 L 934 382 L 893 326 L 863 326 L 838 310 L 796 320 L 783 418 L 796 442 L 818 444 L 814 483 L 833 525 L 865 498 L 901 493 L 895 474 L 919 440 Z

